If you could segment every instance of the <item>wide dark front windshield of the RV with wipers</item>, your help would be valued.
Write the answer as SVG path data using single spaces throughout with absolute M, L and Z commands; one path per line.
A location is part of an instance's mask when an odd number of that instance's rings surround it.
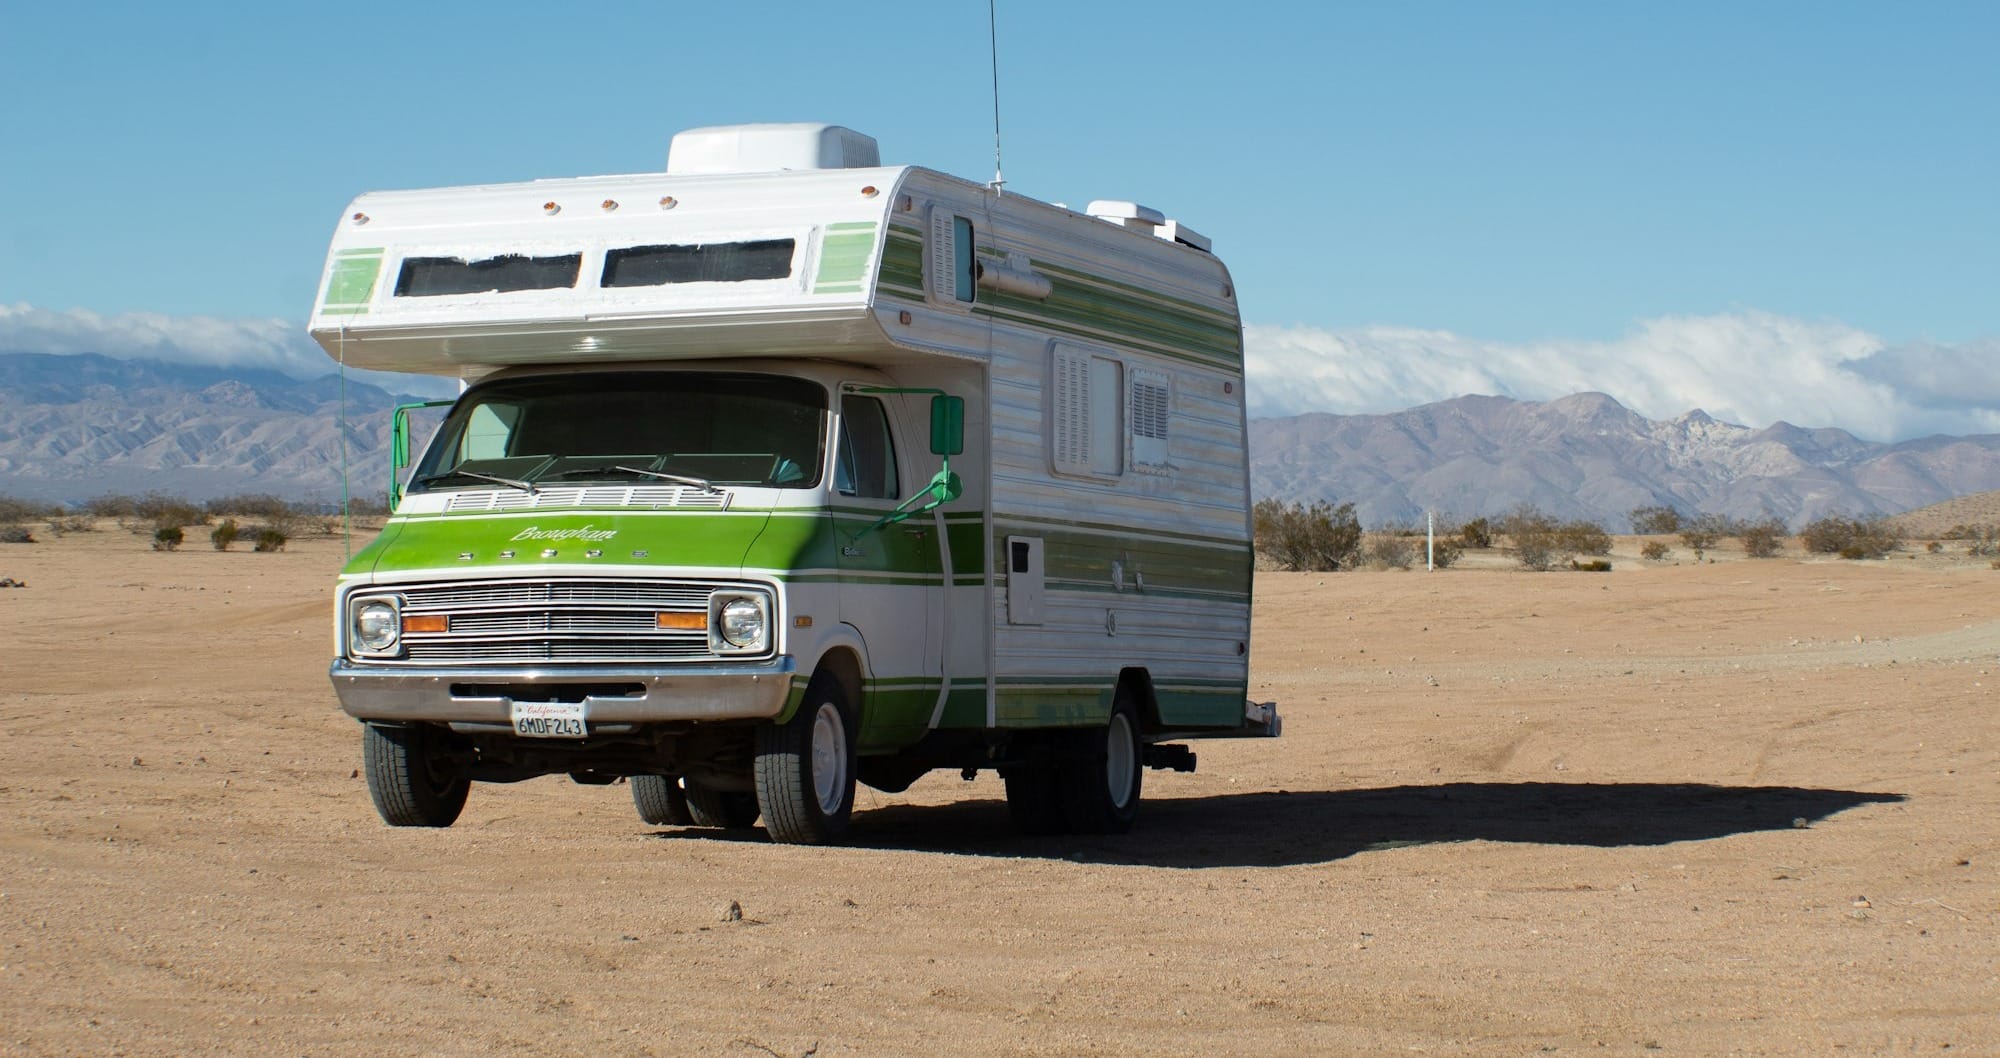
M 826 390 L 802 378 L 588 372 L 470 390 L 438 428 L 412 492 L 578 482 L 808 488 Z

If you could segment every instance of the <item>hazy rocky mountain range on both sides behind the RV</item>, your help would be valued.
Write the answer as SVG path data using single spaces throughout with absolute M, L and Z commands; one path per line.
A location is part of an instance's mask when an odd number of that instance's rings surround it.
M 346 476 L 354 496 L 380 498 L 390 412 L 414 400 L 332 374 L 0 354 L 0 492 L 338 500 Z M 1880 444 L 1698 410 L 1650 420 L 1604 394 L 1460 396 L 1390 414 L 1252 420 L 1250 482 L 1258 498 L 1354 502 L 1364 526 L 1518 504 L 1612 530 L 1652 504 L 1800 526 L 2000 488 L 2000 436 Z

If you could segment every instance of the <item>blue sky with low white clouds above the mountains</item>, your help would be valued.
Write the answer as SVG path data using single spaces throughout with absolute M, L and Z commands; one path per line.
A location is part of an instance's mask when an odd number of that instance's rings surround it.
M 998 6 L 1008 188 L 1210 234 L 1262 374 L 1322 382 L 1266 412 L 2000 430 L 2000 4 Z M 982 0 L 268 8 L 8 12 L 0 346 L 302 324 L 354 194 L 654 170 L 688 126 L 992 174 Z

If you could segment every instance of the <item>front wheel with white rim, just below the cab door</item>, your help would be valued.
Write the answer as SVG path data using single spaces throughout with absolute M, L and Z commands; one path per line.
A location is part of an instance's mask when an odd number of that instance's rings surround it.
M 854 814 L 854 710 L 840 680 L 820 672 L 784 724 L 756 732 L 756 802 L 784 844 L 826 844 Z

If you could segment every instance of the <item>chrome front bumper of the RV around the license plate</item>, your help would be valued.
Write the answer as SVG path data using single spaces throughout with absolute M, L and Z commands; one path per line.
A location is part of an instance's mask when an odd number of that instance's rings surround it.
M 572 700 L 578 692 L 592 724 L 660 720 L 766 720 L 784 710 L 796 662 L 716 662 L 684 666 L 562 666 L 562 668 L 404 668 L 334 658 L 328 676 L 340 710 L 356 720 L 432 724 L 510 724 L 516 696 Z M 512 690 L 512 694 L 508 694 Z

